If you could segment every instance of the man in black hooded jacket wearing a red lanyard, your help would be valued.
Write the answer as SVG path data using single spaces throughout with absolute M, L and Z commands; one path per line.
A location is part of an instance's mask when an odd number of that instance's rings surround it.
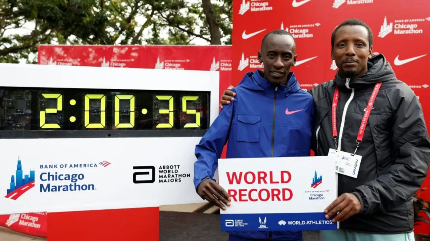
M 372 42 L 364 22 L 339 24 L 332 33 L 339 71 L 310 90 L 315 154 L 328 155 L 332 148 L 362 156 L 356 178 L 338 175 L 340 196 L 325 212 L 341 222 L 340 229 L 323 231 L 323 241 L 414 240 L 412 195 L 427 175 L 427 127 L 413 91 L 396 79 L 382 54 L 372 57 Z

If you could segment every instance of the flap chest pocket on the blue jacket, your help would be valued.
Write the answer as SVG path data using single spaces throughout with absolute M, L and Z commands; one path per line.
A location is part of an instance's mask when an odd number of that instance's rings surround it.
M 237 141 L 258 142 L 260 139 L 260 116 L 253 114 L 237 115 Z

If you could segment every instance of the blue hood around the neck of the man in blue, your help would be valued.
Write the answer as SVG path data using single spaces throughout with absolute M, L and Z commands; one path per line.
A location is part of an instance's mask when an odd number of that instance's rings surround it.
M 246 75 L 243 76 L 243 79 L 240 81 L 239 85 L 249 90 L 268 91 L 271 93 L 275 91 L 276 87 L 278 87 L 278 93 L 285 92 L 285 94 L 300 90 L 300 85 L 298 84 L 293 72 L 289 72 L 287 84 L 279 84 L 279 86 L 270 83 L 262 76 L 263 72 L 258 69 L 255 72 L 247 72 Z

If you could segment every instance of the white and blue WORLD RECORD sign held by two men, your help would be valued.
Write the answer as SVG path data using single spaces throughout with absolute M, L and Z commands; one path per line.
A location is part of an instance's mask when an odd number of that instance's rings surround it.
M 337 198 L 332 157 L 220 159 L 219 184 L 232 202 L 222 231 L 337 229 L 324 209 Z

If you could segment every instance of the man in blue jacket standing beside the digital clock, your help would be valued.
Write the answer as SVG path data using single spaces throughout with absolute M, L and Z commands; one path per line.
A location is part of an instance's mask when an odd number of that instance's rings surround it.
M 309 156 L 314 116 L 312 96 L 289 72 L 295 40 L 285 30 L 264 36 L 258 59 L 264 71 L 248 72 L 196 146 L 194 185 L 203 199 L 225 210 L 230 196 L 213 179 L 228 140 L 227 158 Z M 301 232 L 230 232 L 230 241 L 301 241 Z

